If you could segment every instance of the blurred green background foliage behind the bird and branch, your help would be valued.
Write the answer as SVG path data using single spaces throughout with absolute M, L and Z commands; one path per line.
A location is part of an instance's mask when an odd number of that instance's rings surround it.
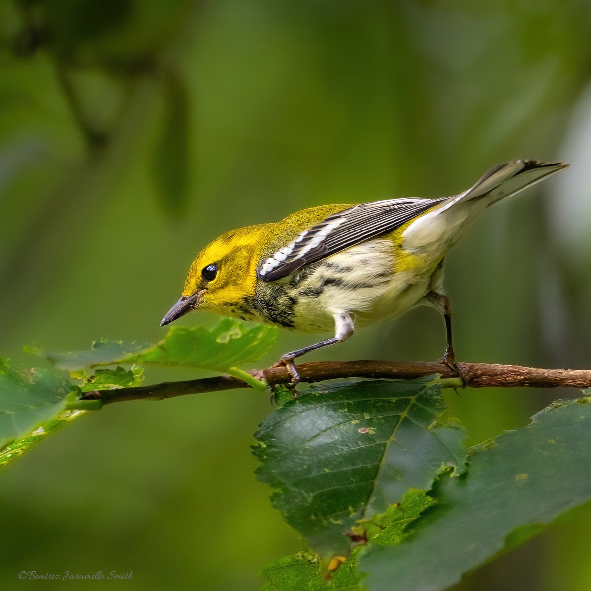
M 573 166 L 488 210 L 447 258 L 456 352 L 589 368 L 590 30 L 586 0 L 0 2 L 0 354 L 31 365 L 25 344 L 158 340 L 219 233 L 325 203 L 444 196 L 538 158 Z M 264 363 L 309 342 L 282 333 Z M 310 358 L 443 348 L 443 321 L 417 309 Z M 574 394 L 448 398 L 477 443 Z M 66 584 L 21 570 L 114 570 L 134 571 L 118 588 L 256 589 L 261 567 L 301 548 L 252 474 L 271 410 L 232 391 L 64 428 L 1 475 L 0 586 Z M 588 591 L 589 530 L 582 509 L 457 589 Z

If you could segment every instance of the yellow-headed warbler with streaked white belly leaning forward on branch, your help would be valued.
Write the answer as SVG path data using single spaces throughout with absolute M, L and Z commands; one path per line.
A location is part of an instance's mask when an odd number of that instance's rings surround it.
M 194 259 L 161 326 L 200 309 L 307 332 L 334 330 L 331 339 L 281 357 L 296 383 L 298 356 L 347 339 L 354 326 L 429 304 L 444 316 L 444 361 L 455 366 L 443 257 L 483 209 L 567 166 L 517 160 L 452 197 L 311 207 L 233 230 Z

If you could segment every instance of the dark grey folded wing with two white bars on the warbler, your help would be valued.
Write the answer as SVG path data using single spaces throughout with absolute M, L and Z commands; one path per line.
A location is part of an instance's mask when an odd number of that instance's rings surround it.
M 259 261 L 256 277 L 277 281 L 297 269 L 403 225 L 449 199 L 389 199 L 361 203 L 325 217 Z

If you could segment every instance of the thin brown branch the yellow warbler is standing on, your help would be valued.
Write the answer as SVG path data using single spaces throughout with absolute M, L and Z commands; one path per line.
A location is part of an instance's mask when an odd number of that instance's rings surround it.
M 466 386 L 483 388 L 497 386 L 509 388 L 527 386 L 537 388 L 591 387 L 591 371 L 580 369 L 537 369 L 518 365 L 489 365 L 488 363 L 459 363 Z M 440 374 L 443 378 L 457 378 L 457 374 L 444 363 L 394 361 L 323 361 L 298 365 L 302 382 L 321 382 L 335 378 L 393 378 L 411 379 Z M 269 386 L 288 384 L 291 376 L 284 367 L 253 369 L 249 374 L 264 378 Z M 163 400 L 187 394 L 217 392 L 233 388 L 249 388 L 246 382 L 229 375 L 215 378 L 163 382 L 137 388 L 114 388 L 86 392 L 82 400 L 102 400 L 104 404 L 125 400 Z

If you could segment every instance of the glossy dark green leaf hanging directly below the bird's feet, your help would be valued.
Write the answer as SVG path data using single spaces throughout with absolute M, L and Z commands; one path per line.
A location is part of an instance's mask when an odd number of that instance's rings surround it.
M 310 388 L 262 423 L 257 476 L 288 524 L 322 556 L 347 554 L 346 532 L 462 472 L 466 433 L 441 422 L 439 381 L 358 381 Z

